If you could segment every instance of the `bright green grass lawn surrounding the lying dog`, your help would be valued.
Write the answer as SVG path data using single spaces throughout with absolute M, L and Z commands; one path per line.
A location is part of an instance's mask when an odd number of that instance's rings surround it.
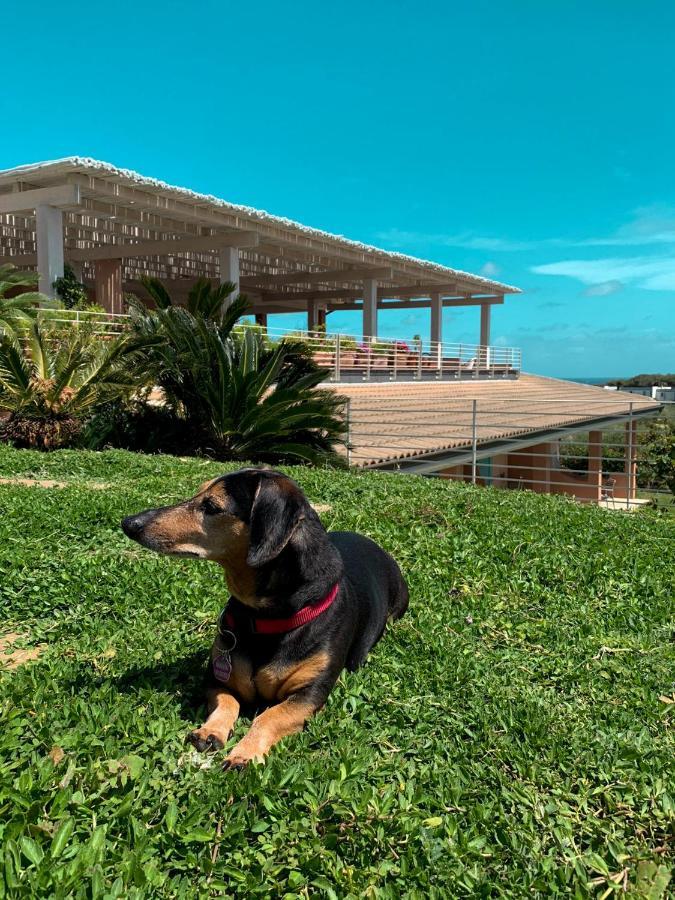
M 119 521 L 223 468 L 0 448 L 0 632 L 44 645 L 0 673 L 7 896 L 668 894 L 675 521 L 289 470 L 396 556 L 410 612 L 303 734 L 222 772 L 183 743 L 220 570 Z

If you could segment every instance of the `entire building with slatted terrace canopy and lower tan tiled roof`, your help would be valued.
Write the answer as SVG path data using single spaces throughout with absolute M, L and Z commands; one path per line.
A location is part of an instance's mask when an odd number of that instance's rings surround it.
M 353 465 L 529 487 L 601 502 L 636 495 L 636 429 L 652 397 L 523 375 L 517 348 L 490 341 L 491 312 L 518 288 L 367 246 L 260 210 L 72 157 L 0 172 L 0 263 L 36 269 L 40 288 L 68 262 L 111 316 L 153 275 L 173 297 L 198 277 L 232 282 L 256 321 L 307 313 L 321 331 L 334 310 L 359 310 L 360 345 L 312 338 L 317 360 L 350 403 Z M 446 307 L 480 312 L 475 344 L 442 332 Z M 428 307 L 413 347 L 378 341 L 378 313 Z M 603 431 L 623 429 L 624 465 L 611 473 Z M 587 462 L 570 473 L 558 447 L 586 435 Z M 615 468 L 615 467 L 614 467 Z

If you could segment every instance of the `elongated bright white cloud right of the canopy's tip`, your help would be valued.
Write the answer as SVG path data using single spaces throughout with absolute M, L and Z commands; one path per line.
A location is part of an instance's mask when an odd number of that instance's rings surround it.
M 619 281 L 647 291 L 675 291 L 675 257 L 569 259 L 531 266 L 530 271 L 537 275 L 566 275 L 587 285 Z

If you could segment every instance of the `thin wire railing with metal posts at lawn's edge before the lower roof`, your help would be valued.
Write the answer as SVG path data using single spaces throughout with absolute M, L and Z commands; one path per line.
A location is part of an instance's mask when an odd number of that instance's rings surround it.
M 382 402 L 354 393 L 349 463 L 675 515 L 675 403 L 606 393 Z

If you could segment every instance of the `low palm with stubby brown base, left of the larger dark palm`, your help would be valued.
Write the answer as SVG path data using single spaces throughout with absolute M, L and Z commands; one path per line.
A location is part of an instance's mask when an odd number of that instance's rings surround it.
M 32 321 L 0 337 L 0 438 L 19 447 L 71 445 L 105 403 L 130 395 L 129 338 L 104 341 L 69 330 L 56 335 Z

